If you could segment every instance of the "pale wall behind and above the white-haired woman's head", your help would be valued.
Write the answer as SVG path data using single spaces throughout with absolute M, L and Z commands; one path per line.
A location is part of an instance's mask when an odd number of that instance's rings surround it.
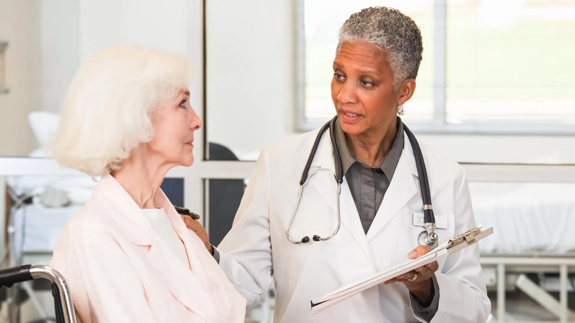
M 75 72 L 95 51 L 121 43 L 186 52 L 186 6 L 201 11 L 199 3 L 194 3 L 0 1 L 0 40 L 9 41 L 6 63 L 10 87 L 10 94 L 0 95 L 0 156 L 26 156 L 37 148 L 28 114 L 60 111 Z

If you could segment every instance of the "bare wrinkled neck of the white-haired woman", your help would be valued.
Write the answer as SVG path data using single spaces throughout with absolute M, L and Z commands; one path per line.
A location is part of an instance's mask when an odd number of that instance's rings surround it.
M 133 149 L 120 168 L 110 173 L 141 209 L 155 209 L 155 197 L 170 168 L 161 156 L 150 153 L 144 145 Z

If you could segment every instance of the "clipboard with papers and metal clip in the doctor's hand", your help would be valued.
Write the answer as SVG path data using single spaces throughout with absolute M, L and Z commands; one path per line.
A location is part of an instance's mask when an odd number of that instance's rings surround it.
M 424 256 L 397 264 L 396 266 L 388 268 L 384 271 L 377 272 L 373 275 L 347 284 L 338 290 L 332 291 L 332 293 L 329 293 L 324 297 L 313 299 L 311 301 L 312 312 L 314 314 L 320 312 L 332 305 L 343 301 L 344 299 L 350 298 L 355 294 L 370 289 L 373 286 L 396 278 L 397 276 L 405 274 L 406 272 L 415 270 L 416 268 L 424 266 L 425 264 L 435 262 L 436 260 L 442 259 L 443 257 L 447 257 L 448 255 L 451 255 L 451 253 L 457 252 L 467 247 L 468 245 L 474 244 L 478 240 L 481 240 L 492 233 L 493 228 L 481 230 L 480 227 L 469 230 L 457 237 L 454 237 L 453 239 L 448 240 L 446 243 L 440 244 L 437 248 L 433 249 Z

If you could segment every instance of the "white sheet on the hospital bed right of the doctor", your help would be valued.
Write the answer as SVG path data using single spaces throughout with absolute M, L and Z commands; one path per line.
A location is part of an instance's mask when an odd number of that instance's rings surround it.
M 575 183 L 469 183 L 483 253 L 575 251 Z

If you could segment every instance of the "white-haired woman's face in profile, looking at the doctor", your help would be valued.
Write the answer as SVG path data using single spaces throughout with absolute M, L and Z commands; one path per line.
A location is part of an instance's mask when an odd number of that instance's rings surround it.
M 194 163 L 194 131 L 202 121 L 190 105 L 190 92 L 182 90 L 173 102 L 158 107 L 152 124 L 154 137 L 148 143 L 151 151 L 165 163 L 191 166 Z

